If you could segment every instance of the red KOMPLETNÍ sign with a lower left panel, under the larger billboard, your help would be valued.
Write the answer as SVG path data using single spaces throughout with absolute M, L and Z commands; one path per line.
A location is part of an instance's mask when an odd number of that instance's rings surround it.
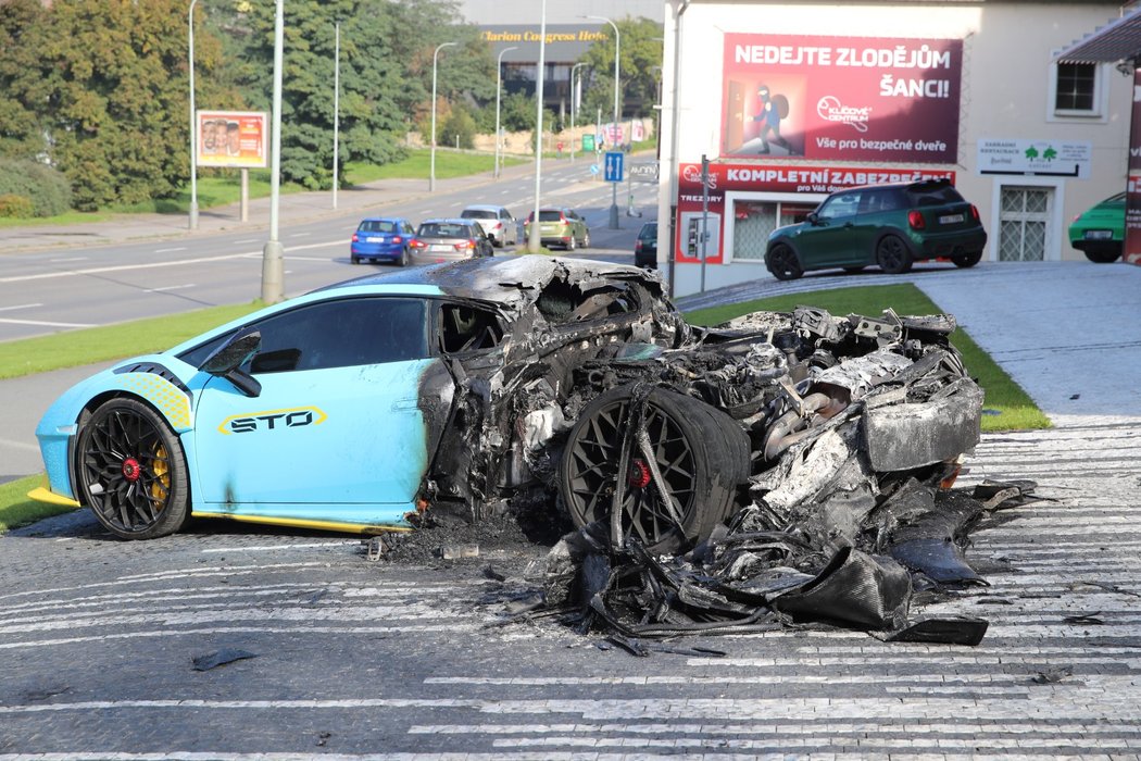
M 727 192 L 750 193 L 832 193 L 858 185 L 883 183 L 914 183 L 921 179 L 949 179 L 955 172 L 941 169 L 885 169 L 883 167 L 804 167 L 796 164 L 710 164 L 709 213 L 714 219 L 730 219 L 731 209 L 725 207 Z M 1141 187 L 1139 187 L 1141 189 Z M 673 242 L 674 257 L 683 264 L 698 264 L 701 256 L 693 256 L 686 236 L 691 234 L 694 220 L 702 214 L 702 165 L 681 164 L 678 176 L 678 219 Z M 722 264 L 723 225 L 710 225 L 707 264 Z

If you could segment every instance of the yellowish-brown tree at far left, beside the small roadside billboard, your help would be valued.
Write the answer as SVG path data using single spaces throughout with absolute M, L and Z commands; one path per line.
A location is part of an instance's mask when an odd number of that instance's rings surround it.
M 71 0 L 31 16 L 26 6 L 2 7 L 29 23 L 0 48 L 0 111 L 31 127 L 22 138 L 0 127 L 2 149 L 27 155 L 39 143 L 79 209 L 173 194 L 189 172 L 186 3 Z M 217 41 L 203 35 L 200 50 L 209 74 Z

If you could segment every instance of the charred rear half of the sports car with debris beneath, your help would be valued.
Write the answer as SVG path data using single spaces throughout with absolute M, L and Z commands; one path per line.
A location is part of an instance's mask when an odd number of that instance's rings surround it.
M 428 513 L 556 495 L 578 532 L 550 553 L 549 609 L 625 635 L 825 621 L 981 637 L 976 621 L 907 629 L 915 582 L 980 582 L 968 531 L 1030 491 L 949 488 L 982 405 L 953 317 L 801 307 L 705 329 L 625 266 L 524 257 L 419 277 L 471 306 L 454 382 L 436 386 L 450 398 L 423 387 L 423 408 L 446 411 Z

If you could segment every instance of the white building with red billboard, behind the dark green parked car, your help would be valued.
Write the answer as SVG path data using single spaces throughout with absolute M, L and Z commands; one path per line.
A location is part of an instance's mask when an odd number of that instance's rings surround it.
M 667 0 L 658 251 L 674 293 L 699 288 L 703 155 L 707 289 L 769 276 L 768 233 L 831 189 L 919 176 L 950 177 L 978 207 L 985 261 L 1083 258 L 1070 220 L 1126 186 L 1132 68 L 1053 58 L 1119 13 Z M 779 113 L 758 119 L 761 98 Z

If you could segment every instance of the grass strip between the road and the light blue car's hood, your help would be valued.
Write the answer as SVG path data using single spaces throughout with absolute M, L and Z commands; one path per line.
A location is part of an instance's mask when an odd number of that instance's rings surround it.
M 258 301 L 0 343 L 0 380 L 169 349 L 260 308 Z

